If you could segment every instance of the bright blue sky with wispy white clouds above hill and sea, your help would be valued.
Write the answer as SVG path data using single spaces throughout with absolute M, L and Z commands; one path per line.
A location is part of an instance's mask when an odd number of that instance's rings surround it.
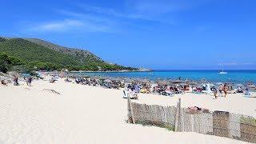
M 256 69 L 254 0 L 0 3 L 0 35 L 90 50 L 152 69 Z

